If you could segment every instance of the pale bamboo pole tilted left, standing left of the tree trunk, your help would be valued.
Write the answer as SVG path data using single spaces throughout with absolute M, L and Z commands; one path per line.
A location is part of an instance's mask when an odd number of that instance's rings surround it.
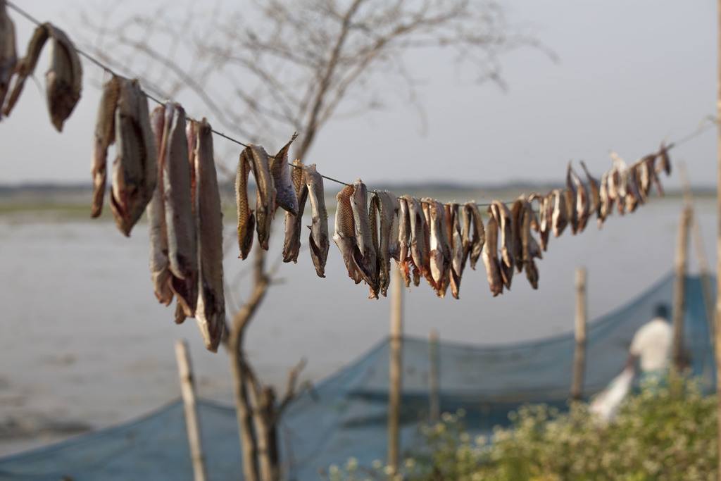
M 203 459 L 203 444 L 200 441 L 200 420 L 198 419 L 198 407 L 195 405 L 195 382 L 185 339 L 175 341 L 175 358 L 177 358 L 180 392 L 182 392 L 182 402 L 185 407 L 185 427 L 187 428 L 187 441 L 190 444 L 190 459 L 193 462 L 193 479 L 205 481 L 205 459 Z

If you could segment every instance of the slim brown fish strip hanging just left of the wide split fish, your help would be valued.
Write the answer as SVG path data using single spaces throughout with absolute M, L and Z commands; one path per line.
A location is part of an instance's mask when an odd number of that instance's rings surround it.
M 92 210 L 91 217 L 102 213 L 107 184 L 107 149 L 115 142 L 115 109 L 118 107 L 121 80 L 112 76 L 102 86 L 102 97 L 95 121 L 95 144 L 92 156 Z M 162 136 L 162 132 L 161 132 Z M 156 142 L 159 146 L 159 142 Z

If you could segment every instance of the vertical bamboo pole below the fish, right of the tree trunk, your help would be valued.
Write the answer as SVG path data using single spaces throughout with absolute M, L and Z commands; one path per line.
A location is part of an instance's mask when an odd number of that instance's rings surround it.
M 400 407 L 403 376 L 403 290 L 401 274 L 392 269 L 391 340 L 388 400 L 388 465 L 395 474 L 400 450 Z

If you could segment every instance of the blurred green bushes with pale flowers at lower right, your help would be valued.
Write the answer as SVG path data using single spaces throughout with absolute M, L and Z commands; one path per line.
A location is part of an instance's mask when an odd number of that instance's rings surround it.
M 694 481 L 716 480 L 716 397 L 680 377 L 647 384 L 602 423 L 588 405 L 559 413 L 534 405 L 511 416 L 510 428 L 491 439 L 472 438 L 464 412 L 446 413 L 423 428 L 425 448 L 406 459 L 402 472 L 376 462 L 330 467 L 331 481 Z

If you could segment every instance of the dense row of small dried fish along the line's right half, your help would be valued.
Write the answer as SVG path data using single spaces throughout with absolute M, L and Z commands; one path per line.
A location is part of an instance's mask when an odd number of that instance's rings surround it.
M 444 205 L 432 198 L 379 191 L 371 193 L 368 203 L 366 185 L 356 180 L 337 195 L 333 240 L 350 278 L 365 282 L 375 299 L 379 293 L 386 295 L 392 259 L 406 286 L 418 286 L 425 278 L 439 297 L 446 296 L 450 286 L 451 295 L 459 299 L 466 263 L 475 270 L 479 258 L 493 296 L 510 289 L 514 270 L 525 272 L 536 289 L 536 259 L 547 250 L 551 234 L 559 237 L 567 227 L 578 234 L 591 216 L 600 228 L 614 206 L 624 215 L 646 203 L 652 188 L 663 195 L 659 174 L 671 174 L 668 147 L 662 144 L 630 166 L 615 153 L 611 159 L 612 167 L 600 181 L 584 162 L 580 167 L 585 180 L 569 163 L 565 188 L 521 195 L 508 205 L 492 201 L 485 224 L 475 202 Z

